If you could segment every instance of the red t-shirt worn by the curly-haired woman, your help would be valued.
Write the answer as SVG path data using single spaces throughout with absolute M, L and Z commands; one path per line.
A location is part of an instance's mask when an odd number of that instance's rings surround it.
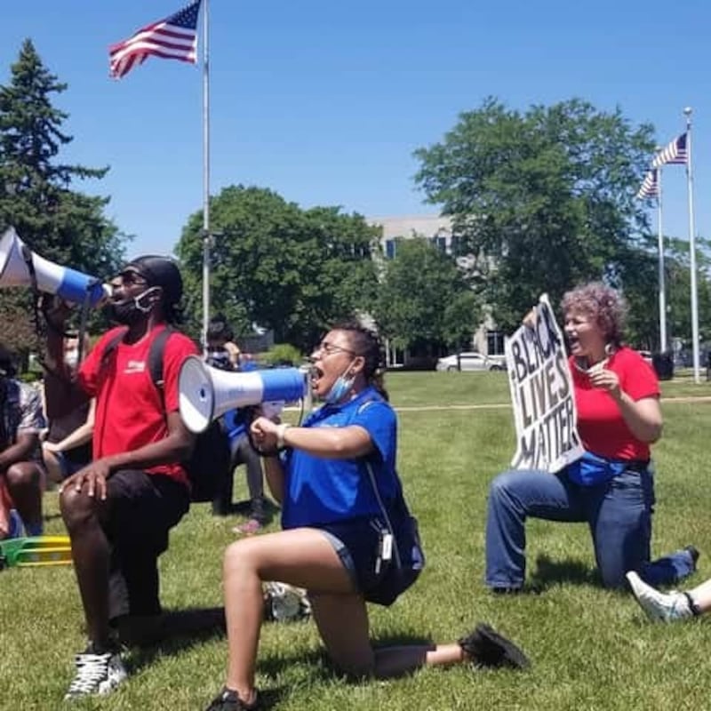
M 568 363 L 575 388 L 578 433 L 585 449 L 612 459 L 649 459 L 649 444 L 635 439 L 610 393 L 592 387 L 587 375 L 575 367 L 573 358 Z M 620 348 L 605 367 L 617 373 L 619 387 L 633 400 L 659 397 L 655 372 L 631 348 Z

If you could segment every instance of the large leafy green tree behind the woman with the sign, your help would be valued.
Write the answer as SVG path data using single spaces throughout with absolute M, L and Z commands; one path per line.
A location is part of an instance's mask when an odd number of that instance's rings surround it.
M 421 148 L 415 180 L 451 215 L 459 254 L 490 260 L 475 280 L 499 326 L 513 330 L 547 292 L 624 284 L 624 259 L 647 232 L 635 202 L 654 148 L 649 125 L 581 100 L 525 113 L 488 99 L 441 143 Z

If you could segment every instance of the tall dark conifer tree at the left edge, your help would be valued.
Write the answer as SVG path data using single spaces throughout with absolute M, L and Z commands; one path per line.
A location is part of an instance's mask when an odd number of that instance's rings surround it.
M 52 105 L 67 84 L 44 67 L 26 40 L 0 86 L 0 233 L 13 226 L 37 254 L 60 265 L 106 277 L 123 259 L 124 236 L 104 215 L 108 198 L 72 189 L 75 180 L 100 179 L 108 168 L 63 164 L 60 150 L 73 140 L 62 129 L 68 115 Z M 26 292 L 0 292 L 0 312 L 28 321 Z M 8 342 L 31 347 L 28 330 Z M 31 334 L 31 330 L 29 331 Z

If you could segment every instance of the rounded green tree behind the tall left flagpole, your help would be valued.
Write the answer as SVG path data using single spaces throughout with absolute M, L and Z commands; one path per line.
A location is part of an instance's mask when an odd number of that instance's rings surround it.
M 334 321 L 366 311 L 377 288 L 371 253 L 379 229 L 339 208 L 301 210 L 265 188 L 231 186 L 210 203 L 212 307 L 249 333 L 307 350 Z M 177 253 L 193 329 L 202 308 L 202 212 L 189 220 Z

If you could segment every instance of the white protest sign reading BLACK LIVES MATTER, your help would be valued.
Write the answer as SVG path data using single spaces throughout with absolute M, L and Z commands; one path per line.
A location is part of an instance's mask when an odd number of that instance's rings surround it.
M 557 472 L 583 455 L 563 334 L 547 295 L 505 344 L 514 405 L 515 469 Z

